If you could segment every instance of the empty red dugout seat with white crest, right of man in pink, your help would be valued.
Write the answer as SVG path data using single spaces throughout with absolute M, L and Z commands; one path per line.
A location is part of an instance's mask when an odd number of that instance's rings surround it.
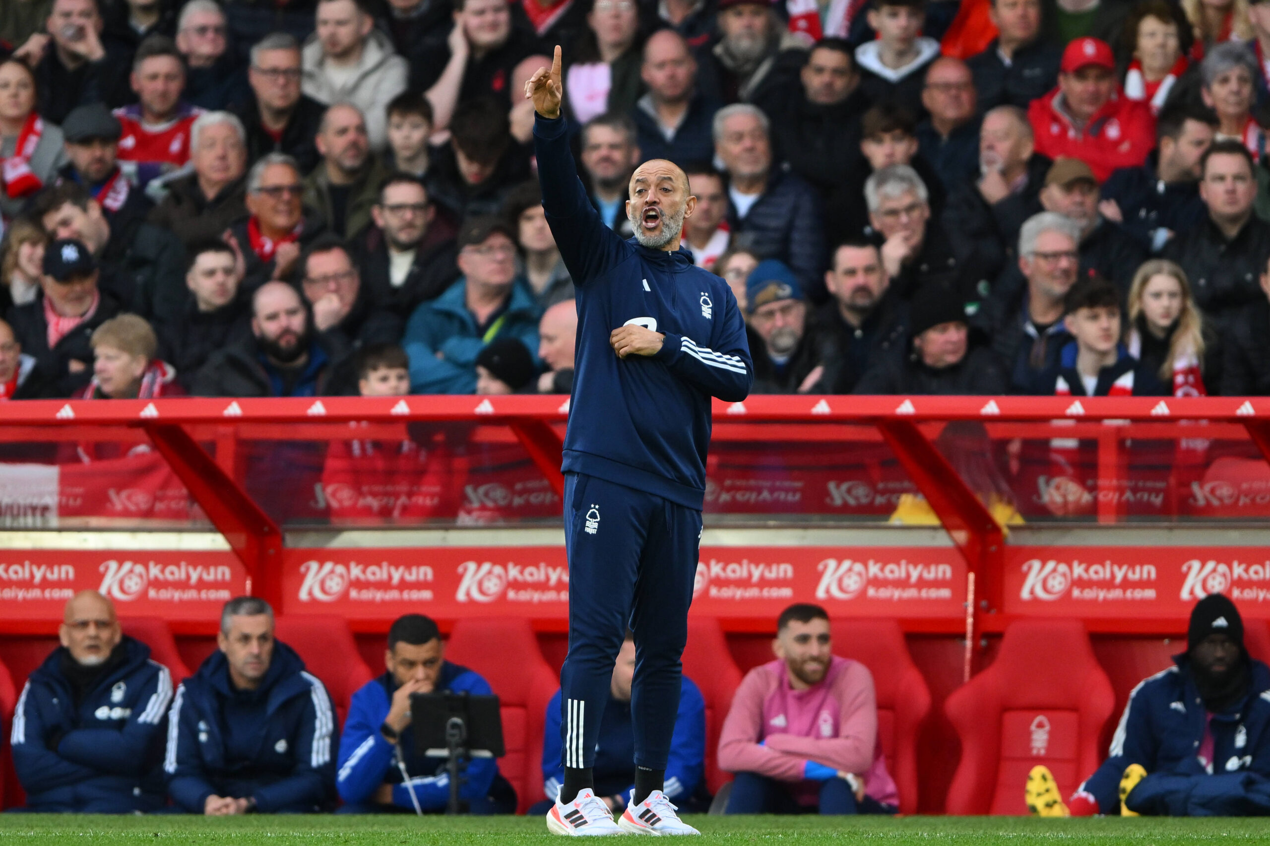
M 1099 766 L 1115 705 L 1111 682 L 1078 620 L 1021 620 L 997 659 L 944 710 L 961 739 L 950 814 L 1026 814 L 1027 771 L 1044 763 L 1068 796 Z

